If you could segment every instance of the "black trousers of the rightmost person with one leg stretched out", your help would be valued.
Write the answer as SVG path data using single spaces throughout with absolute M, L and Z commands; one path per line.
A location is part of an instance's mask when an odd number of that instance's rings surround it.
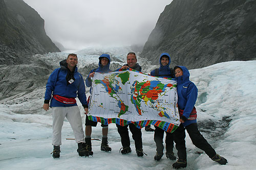
M 185 145 L 185 129 L 193 142 L 193 144 L 203 150 L 210 158 L 216 155 L 215 150 L 211 147 L 211 145 L 207 142 L 207 140 L 201 135 L 198 130 L 197 123 L 190 124 L 185 128 L 181 124 L 178 129 L 173 133 L 174 141 L 176 143 L 176 149 L 178 150 L 179 159 L 187 160 L 186 155 L 186 145 Z

